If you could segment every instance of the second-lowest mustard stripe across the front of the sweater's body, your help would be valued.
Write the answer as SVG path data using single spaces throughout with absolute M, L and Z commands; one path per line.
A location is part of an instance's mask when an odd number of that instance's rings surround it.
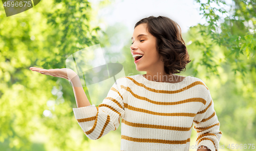
M 122 123 L 125 125 L 133 126 L 133 127 L 144 127 L 144 128 L 157 128 L 163 130 L 174 130 L 174 131 L 189 131 L 193 124 L 190 127 L 178 127 L 178 126 L 164 126 L 164 125 L 154 125 L 154 124 L 142 124 L 142 123 L 134 123 L 126 121 L 122 118 Z

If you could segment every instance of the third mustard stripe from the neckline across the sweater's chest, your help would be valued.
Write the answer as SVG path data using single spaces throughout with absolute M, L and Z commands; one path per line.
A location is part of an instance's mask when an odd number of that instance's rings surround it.
M 142 113 L 147 113 L 147 114 L 152 114 L 152 115 L 160 115 L 160 116 L 188 116 L 188 117 L 195 117 L 195 113 L 159 113 L 159 112 L 153 112 L 145 109 L 140 109 L 138 107 L 134 107 L 131 105 L 128 105 L 127 103 L 124 103 L 124 107 L 126 109 L 132 110 L 132 111 L 137 111 L 137 112 L 142 112 Z

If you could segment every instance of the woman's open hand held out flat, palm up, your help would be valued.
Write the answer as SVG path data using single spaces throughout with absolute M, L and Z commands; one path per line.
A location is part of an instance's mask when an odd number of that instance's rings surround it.
M 61 68 L 61 69 L 41 69 L 36 67 L 30 67 L 29 68 L 32 71 L 36 71 L 41 74 L 46 74 L 54 77 L 64 78 L 69 81 L 71 81 L 72 78 L 77 76 L 77 74 L 72 70 L 68 68 Z

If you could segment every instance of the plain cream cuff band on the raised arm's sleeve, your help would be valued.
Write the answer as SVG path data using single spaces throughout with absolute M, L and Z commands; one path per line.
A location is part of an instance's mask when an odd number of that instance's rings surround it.
M 98 111 L 95 104 L 92 104 L 89 106 L 73 108 L 73 112 L 76 119 L 83 119 L 96 116 Z

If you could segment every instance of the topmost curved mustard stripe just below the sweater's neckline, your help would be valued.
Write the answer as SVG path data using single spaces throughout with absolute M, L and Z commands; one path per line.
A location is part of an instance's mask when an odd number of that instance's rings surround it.
M 167 93 L 167 94 L 179 93 L 179 92 L 185 91 L 185 90 L 187 90 L 187 89 L 189 89 L 189 88 L 192 88 L 192 87 L 194 87 L 194 86 L 196 86 L 196 85 L 198 85 L 198 84 L 204 85 L 204 87 L 205 87 L 207 90 L 209 90 L 209 89 L 206 87 L 206 85 L 205 85 L 203 82 L 201 82 L 201 81 L 193 82 L 193 83 L 189 84 L 187 87 L 184 87 L 184 88 L 182 88 L 182 89 L 180 89 L 180 90 L 167 91 L 167 90 L 156 90 L 156 89 L 148 88 L 148 87 L 146 87 L 144 84 L 137 82 L 135 79 L 133 79 L 133 78 L 131 78 L 131 77 L 122 77 L 122 78 L 130 79 L 131 81 L 133 81 L 133 82 L 134 82 L 136 85 L 138 85 L 139 87 L 143 87 L 143 88 L 145 88 L 146 90 L 152 91 L 152 92 L 155 92 L 155 93 Z

